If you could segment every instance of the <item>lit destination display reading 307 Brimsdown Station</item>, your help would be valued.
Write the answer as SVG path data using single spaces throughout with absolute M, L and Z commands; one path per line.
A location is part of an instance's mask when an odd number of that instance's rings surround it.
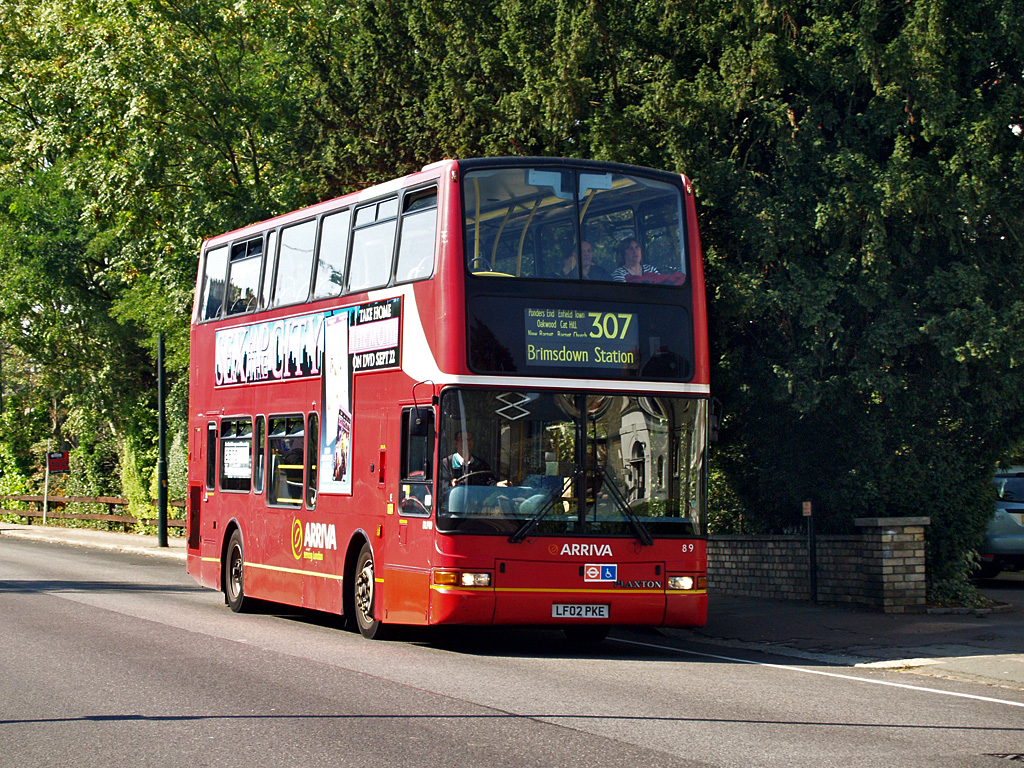
M 640 365 L 635 312 L 525 307 L 529 366 L 636 369 Z

